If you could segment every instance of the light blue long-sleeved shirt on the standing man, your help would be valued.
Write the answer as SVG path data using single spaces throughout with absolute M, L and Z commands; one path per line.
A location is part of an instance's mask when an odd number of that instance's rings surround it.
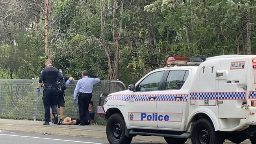
M 76 100 L 76 95 L 78 92 L 83 92 L 90 94 L 93 91 L 93 85 L 100 82 L 98 78 L 88 78 L 88 76 L 79 79 L 76 84 L 76 89 L 74 91 L 74 100 Z

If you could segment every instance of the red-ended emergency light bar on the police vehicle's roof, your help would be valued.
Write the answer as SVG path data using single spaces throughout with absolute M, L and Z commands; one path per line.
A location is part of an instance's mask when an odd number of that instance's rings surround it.
M 166 62 L 168 65 L 200 65 L 204 61 L 205 57 L 169 57 Z

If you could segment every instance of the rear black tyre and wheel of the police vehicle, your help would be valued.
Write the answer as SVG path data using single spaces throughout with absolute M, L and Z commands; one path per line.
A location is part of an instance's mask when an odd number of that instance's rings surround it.
M 192 144 L 223 144 L 224 139 L 219 135 L 206 118 L 197 120 L 192 129 Z

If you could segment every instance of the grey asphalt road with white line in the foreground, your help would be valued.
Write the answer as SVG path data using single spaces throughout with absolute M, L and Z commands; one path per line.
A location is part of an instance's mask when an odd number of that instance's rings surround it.
M 48 133 L 27 133 L 19 131 L 1 131 L 0 144 L 109 144 L 106 138 L 52 135 Z M 132 144 L 160 144 L 156 142 L 138 142 Z M 225 144 L 233 144 L 225 142 Z M 249 143 L 248 143 L 249 144 Z

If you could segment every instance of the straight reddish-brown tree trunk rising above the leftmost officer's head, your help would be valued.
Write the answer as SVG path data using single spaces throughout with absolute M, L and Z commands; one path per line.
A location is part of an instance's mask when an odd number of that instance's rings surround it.
M 49 0 L 45 0 L 45 55 L 49 56 L 48 33 L 49 33 Z

